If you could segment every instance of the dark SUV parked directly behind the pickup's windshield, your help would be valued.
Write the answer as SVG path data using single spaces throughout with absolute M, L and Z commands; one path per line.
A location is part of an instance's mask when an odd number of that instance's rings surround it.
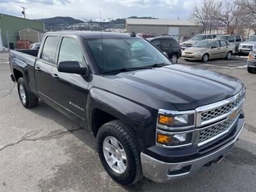
M 154 44 L 158 49 L 166 52 L 172 63 L 177 63 L 181 56 L 180 45 L 172 36 L 158 36 L 155 38 L 147 38 L 149 42 Z

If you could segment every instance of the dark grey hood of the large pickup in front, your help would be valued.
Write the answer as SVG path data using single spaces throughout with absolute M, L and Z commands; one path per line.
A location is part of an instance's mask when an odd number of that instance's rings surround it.
M 236 77 L 183 65 L 123 72 L 111 79 L 170 102 L 179 111 L 227 99 L 243 88 Z

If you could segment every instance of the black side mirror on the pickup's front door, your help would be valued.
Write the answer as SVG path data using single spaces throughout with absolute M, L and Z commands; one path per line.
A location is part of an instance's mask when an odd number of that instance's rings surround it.
M 58 64 L 58 72 L 88 76 L 88 68 L 80 67 L 77 61 L 61 61 Z

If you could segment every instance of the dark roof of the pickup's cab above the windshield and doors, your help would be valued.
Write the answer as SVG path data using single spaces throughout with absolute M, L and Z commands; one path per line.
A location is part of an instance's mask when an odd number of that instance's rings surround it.
M 59 34 L 59 35 L 80 35 L 85 39 L 92 38 L 134 38 L 131 37 L 129 33 L 113 33 L 113 32 L 100 32 L 100 31 L 56 31 L 56 32 L 48 32 L 47 35 L 50 34 Z M 136 36 L 136 38 L 142 38 L 140 36 Z

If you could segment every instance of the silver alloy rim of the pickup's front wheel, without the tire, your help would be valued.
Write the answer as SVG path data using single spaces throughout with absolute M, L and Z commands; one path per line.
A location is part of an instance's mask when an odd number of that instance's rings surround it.
M 109 167 L 116 173 L 124 173 L 127 168 L 127 157 L 121 143 L 113 136 L 108 136 L 102 143 L 102 149 Z

